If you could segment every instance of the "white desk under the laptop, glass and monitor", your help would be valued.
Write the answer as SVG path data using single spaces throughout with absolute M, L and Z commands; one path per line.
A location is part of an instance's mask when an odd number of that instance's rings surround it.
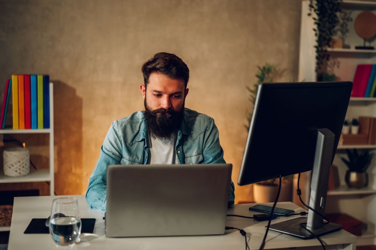
M 89 209 L 85 196 L 77 197 L 82 218 L 96 218 L 94 234 L 82 234 L 79 244 L 69 247 L 56 245 L 49 234 L 24 234 L 24 230 L 32 218 L 47 218 L 50 215 L 52 200 L 56 197 L 67 196 L 38 196 L 15 197 L 12 215 L 11 232 L 9 236 L 8 250 L 44 250 L 44 249 L 245 249 L 245 239 L 237 230 L 226 230 L 224 235 L 212 236 L 173 236 L 173 237 L 133 237 L 133 238 L 106 238 L 104 212 Z M 254 212 L 248 210 L 250 205 L 234 205 L 228 214 L 252 216 Z M 270 203 L 268 204 L 270 205 Z M 278 207 L 293 209 L 295 212 L 304 211 L 291 202 L 280 202 Z M 272 223 L 288 220 L 292 217 L 278 218 Z M 265 233 L 267 221 L 255 221 L 252 219 L 227 217 L 226 226 L 242 228 L 247 232 L 247 241 L 250 249 L 259 249 Z M 355 250 L 356 236 L 340 230 L 321 236 L 326 244 L 326 249 Z M 321 249 L 317 239 L 303 240 L 292 236 L 270 231 L 264 249 L 295 248 L 304 250 Z

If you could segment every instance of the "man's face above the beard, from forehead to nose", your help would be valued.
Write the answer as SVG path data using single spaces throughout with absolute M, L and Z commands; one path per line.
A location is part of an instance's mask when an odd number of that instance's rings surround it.
M 164 74 L 153 72 L 149 76 L 147 89 L 140 86 L 144 100 L 150 110 L 159 108 L 180 111 L 189 89 L 185 89 L 182 79 L 171 79 Z

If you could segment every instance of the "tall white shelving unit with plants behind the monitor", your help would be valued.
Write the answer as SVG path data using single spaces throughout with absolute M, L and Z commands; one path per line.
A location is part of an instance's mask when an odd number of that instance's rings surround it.
M 314 21 L 308 17 L 309 1 L 302 1 L 301 26 L 300 26 L 300 53 L 299 53 L 299 81 L 316 81 L 316 59 L 315 59 L 315 34 Z M 341 8 L 352 11 L 352 18 L 362 11 L 372 11 L 376 14 L 376 2 L 361 0 L 343 0 Z M 355 50 L 356 45 L 362 45 L 363 40 L 359 38 L 349 23 L 349 33 L 345 44 L 350 48 L 329 48 L 328 53 L 331 60 L 338 65 L 331 67 L 330 61 L 327 65 L 329 73 L 334 73 L 342 81 L 352 81 L 356 65 L 360 63 L 376 64 L 376 50 Z M 373 42 L 371 45 L 376 46 Z M 376 98 L 351 98 L 347 110 L 346 119 L 358 116 L 376 116 Z M 334 165 L 338 166 L 340 176 L 340 187 L 329 190 L 327 193 L 326 213 L 346 213 L 361 220 L 365 228 L 362 236 L 358 236 L 357 245 L 376 245 L 376 157 L 373 158 L 371 166 L 368 168 L 368 187 L 361 189 L 348 188 L 345 183 L 345 173 L 347 167 L 340 157 L 346 155 L 344 149 L 376 149 L 376 145 L 339 145 Z

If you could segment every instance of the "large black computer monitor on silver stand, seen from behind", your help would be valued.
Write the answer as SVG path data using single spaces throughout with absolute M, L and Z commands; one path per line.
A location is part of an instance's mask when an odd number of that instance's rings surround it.
M 260 84 L 238 184 L 246 185 L 313 169 L 309 205 L 323 214 L 329 169 L 340 139 L 351 90 L 352 83 L 349 81 Z M 323 226 L 322 217 L 314 215 L 313 212 L 308 214 L 307 228 L 320 229 L 315 232 L 322 235 L 323 227 L 329 226 Z M 312 237 L 306 233 L 294 236 Z

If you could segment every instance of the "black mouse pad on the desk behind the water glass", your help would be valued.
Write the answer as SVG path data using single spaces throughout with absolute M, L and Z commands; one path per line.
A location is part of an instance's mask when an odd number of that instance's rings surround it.
M 49 227 L 46 227 L 46 220 L 44 219 L 32 219 L 27 226 L 24 233 L 50 233 Z M 81 233 L 93 233 L 94 232 L 94 225 L 95 225 L 95 218 L 81 218 Z

